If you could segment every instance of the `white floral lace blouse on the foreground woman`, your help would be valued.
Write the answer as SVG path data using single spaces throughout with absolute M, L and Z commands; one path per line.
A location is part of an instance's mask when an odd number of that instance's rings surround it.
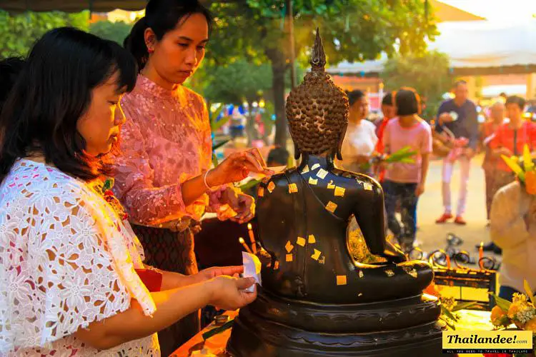
M 73 335 L 155 306 L 134 268 L 143 250 L 96 191 L 58 169 L 19 160 L 0 185 L 0 356 L 160 356 L 156 333 L 106 351 Z

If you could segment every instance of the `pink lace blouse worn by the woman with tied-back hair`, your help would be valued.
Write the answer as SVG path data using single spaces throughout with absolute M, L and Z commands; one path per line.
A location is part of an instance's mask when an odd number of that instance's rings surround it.
M 182 183 L 212 163 L 209 113 L 202 96 L 184 86 L 168 90 L 138 76 L 134 91 L 121 99 L 126 122 L 116 158 L 114 192 L 130 220 L 144 226 L 199 220 L 206 208 L 225 215 L 221 190 L 190 206 L 182 201 Z M 221 216 L 220 216 L 221 217 Z

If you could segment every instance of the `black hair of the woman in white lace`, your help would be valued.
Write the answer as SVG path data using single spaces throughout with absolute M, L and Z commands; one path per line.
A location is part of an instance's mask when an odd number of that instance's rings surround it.
M 83 180 L 105 174 L 102 158 L 84 153 L 76 123 L 89 109 L 92 89 L 114 74 L 118 90 L 134 89 L 136 61 L 118 44 L 69 27 L 44 34 L 0 114 L 0 180 L 16 159 L 35 152 Z

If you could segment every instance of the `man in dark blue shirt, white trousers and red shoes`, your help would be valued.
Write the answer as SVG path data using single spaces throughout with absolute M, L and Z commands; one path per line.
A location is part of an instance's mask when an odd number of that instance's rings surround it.
M 441 134 L 444 129 L 448 129 L 454 134 L 456 140 L 467 139 L 467 146 L 462 148 L 462 154 L 457 157 L 460 162 L 460 196 L 457 204 L 457 214 L 455 223 L 466 224 L 463 219 L 465 205 L 467 203 L 467 183 L 471 168 L 471 159 L 475 155 L 478 144 L 478 121 L 475 104 L 467 99 L 467 82 L 457 81 L 454 87 L 455 98 L 445 101 L 437 111 L 437 123 L 435 131 Z M 444 213 L 437 219 L 436 223 L 445 223 L 452 218 L 452 203 L 450 197 L 450 181 L 454 162 L 449 156 L 443 160 L 442 169 L 442 196 Z

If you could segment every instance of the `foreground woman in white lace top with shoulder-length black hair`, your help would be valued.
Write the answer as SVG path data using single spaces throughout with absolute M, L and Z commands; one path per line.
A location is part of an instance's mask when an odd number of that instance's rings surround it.
M 162 271 L 157 292 L 139 278 L 149 268 L 139 241 L 97 188 L 136 73 L 119 45 L 55 29 L 4 104 L 0 356 L 159 356 L 157 331 L 207 304 L 234 309 L 256 296 L 244 292 L 250 279 L 231 277 L 239 267 Z

